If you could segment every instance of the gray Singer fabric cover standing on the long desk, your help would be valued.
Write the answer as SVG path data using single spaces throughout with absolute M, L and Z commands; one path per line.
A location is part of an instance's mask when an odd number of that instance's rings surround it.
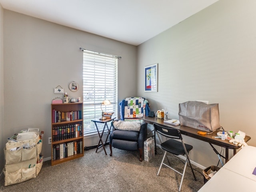
M 220 128 L 218 104 L 205 104 L 199 101 L 187 101 L 179 104 L 180 125 L 215 131 Z

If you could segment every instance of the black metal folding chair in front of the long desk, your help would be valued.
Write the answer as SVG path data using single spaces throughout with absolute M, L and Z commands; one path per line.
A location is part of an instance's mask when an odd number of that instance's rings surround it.
M 184 144 L 183 139 L 182 139 L 182 135 L 180 133 L 180 130 L 178 130 L 178 129 L 168 128 L 168 127 L 160 126 L 158 124 L 154 124 L 154 131 L 163 135 L 163 136 L 166 136 L 167 138 L 170 138 L 170 139 L 166 140 L 165 142 L 161 143 L 161 147 L 164 150 L 164 157 L 162 159 L 162 162 L 161 162 L 160 168 L 158 170 L 157 176 L 159 175 L 159 172 L 160 172 L 163 164 L 165 166 L 167 166 L 168 168 L 171 168 L 172 170 L 181 174 L 182 178 L 181 178 L 180 188 L 179 188 L 179 192 L 180 192 L 181 187 L 182 187 L 182 182 L 183 182 L 183 179 L 184 179 L 184 175 L 185 175 L 185 171 L 186 171 L 187 163 L 189 163 L 191 171 L 192 171 L 192 173 L 194 175 L 194 178 L 196 180 L 194 170 L 193 170 L 193 168 L 191 166 L 191 163 L 190 163 L 190 160 L 188 158 L 188 154 L 189 154 L 190 150 L 193 149 L 193 146 L 189 145 L 189 144 Z M 178 140 L 181 140 L 181 142 L 179 142 Z M 185 162 L 185 166 L 184 166 L 184 169 L 183 169 L 183 173 L 178 172 L 174 168 L 172 168 L 169 165 L 164 163 L 164 158 L 166 157 L 167 152 L 171 153 L 171 154 L 174 154 L 176 156 L 186 154 L 186 162 Z

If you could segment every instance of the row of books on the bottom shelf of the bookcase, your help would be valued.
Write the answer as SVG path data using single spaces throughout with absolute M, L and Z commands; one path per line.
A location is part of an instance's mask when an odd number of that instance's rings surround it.
M 82 141 L 56 144 L 52 148 L 52 160 L 63 159 L 80 153 L 83 153 Z

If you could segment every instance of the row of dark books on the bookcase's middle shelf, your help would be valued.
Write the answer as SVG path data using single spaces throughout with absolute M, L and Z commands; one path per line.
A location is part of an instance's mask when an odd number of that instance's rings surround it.
M 52 141 L 83 136 L 82 124 L 66 124 L 52 127 Z

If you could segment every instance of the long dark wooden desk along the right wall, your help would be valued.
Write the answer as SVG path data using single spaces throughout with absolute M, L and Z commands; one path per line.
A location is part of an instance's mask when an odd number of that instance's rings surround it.
M 197 132 L 198 131 L 202 131 L 199 129 L 195 129 L 195 128 L 191 128 L 191 127 L 187 127 L 187 126 L 174 126 L 168 123 L 164 123 L 164 119 L 160 119 L 157 117 L 147 117 L 147 116 L 143 116 L 140 117 L 140 119 L 144 120 L 145 123 L 149 123 L 149 124 L 160 124 L 162 126 L 166 126 L 166 127 L 171 127 L 171 128 L 176 128 L 178 130 L 180 130 L 181 134 L 192 137 L 192 138 L 196 138 L 198 140 L 202 140 L 205 142 L 208 142 L 211 146 L 212 144 L 217 145 L 217 146 L 221 146 L 224 147 L 225 150 L 225 157 L 222 156 L 223 158 L 225 158 L 225 162 L 228 162 L 228 149 L 232 149 L 234 150 L 234 155 L 236 154 L 236 150 L 239 149 L 240 147 L 238 147 L 237 145 L 228 142 L 227 140 L 221 140 L 220 138 L 213 138 L 213 136 L 217 136 L 217 132 L 218 130 L 216 130 L 215 132 L 213 132 L 212 134 L 206 134 L 206 135 L 200 135 Z M 250 140 L 250 136 L 245 136 L 244 140 L 245 142 L 248 142 Z M 212 146 L 212 148 L 214 149 L 214 151 L 216 152 L 215 148 Z

